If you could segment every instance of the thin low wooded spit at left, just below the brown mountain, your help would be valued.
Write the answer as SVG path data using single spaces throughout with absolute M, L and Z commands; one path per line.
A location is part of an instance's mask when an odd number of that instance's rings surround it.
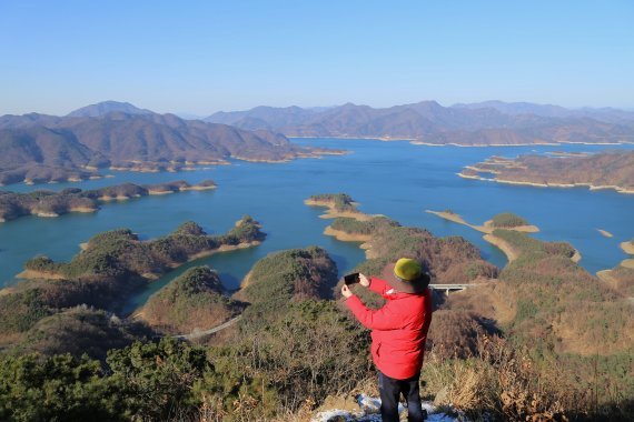
M 68 188 L 60 192 L 38 190 L 29 193 L 0 191 L 0 223 L 20 217 L 59 217 L 69 212 L 96 212 L 100 204 L 112 200 L 128 200 L 152 194 L 166 194 L 191 190 L 216 189 L 212 180 L 189 184 L 184 180 L 157 184 L 122 183 L 95 190 L 82 191 Z

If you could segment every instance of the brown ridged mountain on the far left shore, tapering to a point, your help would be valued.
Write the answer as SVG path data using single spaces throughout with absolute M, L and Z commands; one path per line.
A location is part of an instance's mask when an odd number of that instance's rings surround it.
M 0 117 L 0 184 L 88 179 L 100 168 L 178 171 L 229 159 L 283 162 L 341 153 L 298 147 L 268 130 L 136 110 L 100 105 L 63 118 Z

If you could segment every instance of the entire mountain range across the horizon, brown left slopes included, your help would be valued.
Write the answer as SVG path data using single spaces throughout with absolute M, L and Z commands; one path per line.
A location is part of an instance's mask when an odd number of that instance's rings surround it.
M 634 142 L 634 112 L 486 101 L 435 101 L 375 109 L 256 107 L 202 120 L 105 101 L 65 117 L 0 117 L 0 184 L 98 177 L 100 168 L 161 171 L 226 162 L 286 161 L 328 153 L 286 137 L 407 139 L 429 144 L 492 145 Z

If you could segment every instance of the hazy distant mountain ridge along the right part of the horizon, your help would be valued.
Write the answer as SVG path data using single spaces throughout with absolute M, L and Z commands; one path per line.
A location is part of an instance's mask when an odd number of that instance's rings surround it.
M 217 112 L 205 121 L 266 129 L 288 137 L 410 139 L 463 145 L 634 141 L 634 112 L 487 101 L 443 107 L 436 101 L 374 109 L 346 103 L 320 109 L 257 107 Z

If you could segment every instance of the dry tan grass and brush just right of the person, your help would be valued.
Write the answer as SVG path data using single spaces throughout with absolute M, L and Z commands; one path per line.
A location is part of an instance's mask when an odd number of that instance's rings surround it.
M 592 410 L 592 391 L 571 383 L 558 368 L 538 366 L 504 339 L 481 336 L 477 353 L 444 360 L 434 351 L 424 365 L 424 392 L 473 420 L 567 421 Z

